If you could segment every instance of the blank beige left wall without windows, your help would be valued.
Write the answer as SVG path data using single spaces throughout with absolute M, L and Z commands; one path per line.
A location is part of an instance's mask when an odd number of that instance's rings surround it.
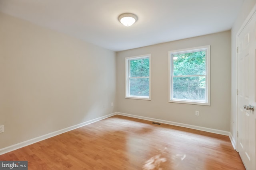
M 115 97 L 115 52 L 0 13 L 0 149 L 113 113 Z

